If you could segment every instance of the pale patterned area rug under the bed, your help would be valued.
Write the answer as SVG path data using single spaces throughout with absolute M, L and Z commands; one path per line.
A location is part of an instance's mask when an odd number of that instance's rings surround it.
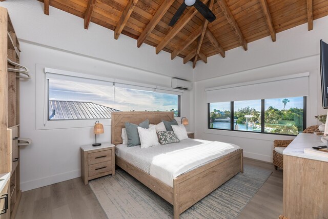
M 244 165 L 244 173 L 235 175 L 180 214 L 180 218 L 235 218 L 271 173 Z M 114 177 L 101 177 L 89 184 L 108 218 L 173 218 L 171 204 L 122 169 Z

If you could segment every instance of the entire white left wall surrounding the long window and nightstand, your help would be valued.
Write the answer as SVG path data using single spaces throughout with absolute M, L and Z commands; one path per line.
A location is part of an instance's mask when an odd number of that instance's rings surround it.
M 9 10 L 20 41 L 20 63 L 30 69 L 32 79 L 20 83 L 20 136 L 33 143 L 20 147 L 20 181 L 23 191 L 69 180 L 80 176 L 79 147 L 92 144 L 94 121 L 90 127 L 36 130 L 37 66 L 79 73 L 107 76 L 149 85 L 171 87 L 177 76 L 192 80 L 191 67 L 182 59 L 171 61 L 170 54 L 155 54 L 155 48 L 113 31 L 90 24 L 84 29 L 83 19 L 50 7 L 50 16 L 43 14 L 37 1 L 6 1 L 0 4 Z M 192 91 L 182 96 L 181 116 L 192 120 Z M 179 121 L 179 120 L 178 120 Z M 99 142 L 111 142 L 111 127 Z

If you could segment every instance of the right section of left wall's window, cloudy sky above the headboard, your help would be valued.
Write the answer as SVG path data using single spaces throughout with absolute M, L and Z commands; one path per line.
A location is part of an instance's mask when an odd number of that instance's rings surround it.
M 115 109 L 173 111 L 174 116 L 180 116 L 180 95 L 115 87 Z

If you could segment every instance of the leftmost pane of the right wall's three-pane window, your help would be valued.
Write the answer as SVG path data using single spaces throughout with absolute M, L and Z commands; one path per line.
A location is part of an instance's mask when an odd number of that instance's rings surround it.
M 210 104 L 210 127 L 214 129 L 231 128 L 230 102 Z

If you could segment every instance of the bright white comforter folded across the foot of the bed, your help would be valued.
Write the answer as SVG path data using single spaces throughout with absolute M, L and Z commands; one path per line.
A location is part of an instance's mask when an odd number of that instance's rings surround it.
M 238 146 L 223 142 L 205 142 L 200 145 L 160 154 L 153 158 L 150 175 L 173 187 L 173 179 L 202 164 L 229 154 Z

